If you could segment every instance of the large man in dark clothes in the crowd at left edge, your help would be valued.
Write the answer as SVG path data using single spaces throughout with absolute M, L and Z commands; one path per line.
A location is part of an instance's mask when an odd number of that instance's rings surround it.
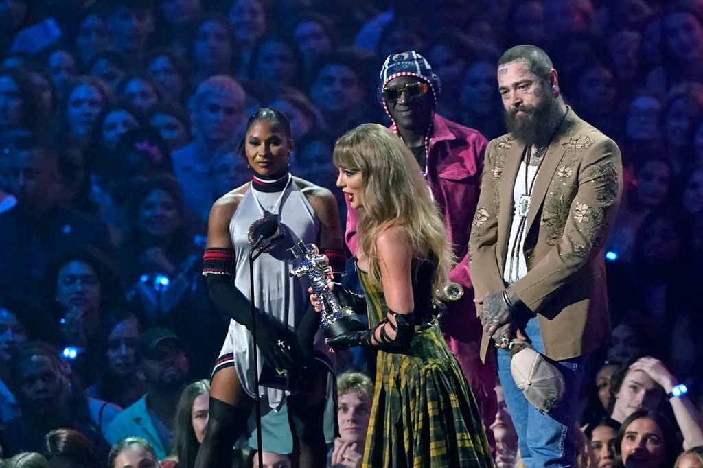
M 110 251 L 100 220 L 62 206 L 54 150 L 21 138 L 4 157 L 4 178 L 18 202 L 0 214 L 0 290 L 38 301 L 37 282 L 53 256 L 85 244 Z

